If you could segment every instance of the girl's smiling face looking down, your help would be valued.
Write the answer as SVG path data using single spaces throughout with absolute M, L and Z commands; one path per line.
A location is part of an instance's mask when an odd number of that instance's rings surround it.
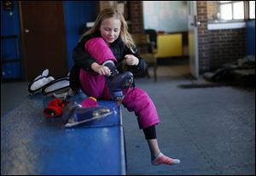
M 121 21 L 112 17 L 102 20 L 100 31 L 102 38 L 107 43 L 113 43 L 118 37 L 121 28 Z

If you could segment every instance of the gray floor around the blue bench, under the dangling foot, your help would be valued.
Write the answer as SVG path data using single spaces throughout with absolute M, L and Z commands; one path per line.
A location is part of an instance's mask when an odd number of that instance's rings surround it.
M 188 66 L 160 66 L 158 76 L 158 82 L 137 79 L 137 87 L 148 92 L 158 110 L 160 150 L 181 163 L 151 166 L 137 118 L 122 108 L 127 173 L 255 174 L 255 88 L 180 88 L 205 83 L 189 79 Z M 1 84 L 1 116 L 26 97 L 26 86 Z

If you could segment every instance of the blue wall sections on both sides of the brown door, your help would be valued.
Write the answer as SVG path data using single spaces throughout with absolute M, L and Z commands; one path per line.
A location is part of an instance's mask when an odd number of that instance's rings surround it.
M 67 63 L 70 70 L 73 66 L 73 48 L 81 34 L 79 29 L 86 22 L 96 20 L 95 1 L 63 1 L 66 26 Z M 20 14 L 18 3 L 14 1 L 13 10 L 3 10 L 1 2 L 1 37 L 17 36 L 17 39 L 1 39 L 1 61 L 12 60 L 1 64 L 3 79 L 22 78 L 20 59 Z

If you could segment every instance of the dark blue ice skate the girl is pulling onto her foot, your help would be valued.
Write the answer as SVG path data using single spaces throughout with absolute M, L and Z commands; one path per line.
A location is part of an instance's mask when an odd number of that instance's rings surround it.
M 116 70 L 113 62 L 105 62 L 103 65 L 108 66 L 111 74 L 107 77 L 109 93 L 114 100 L 122 101 L 124 98 L 123 90 L 125 88 L 130 88 L 133 84 L 133 75 L 130 71 L 125 71 L 122 74 Z

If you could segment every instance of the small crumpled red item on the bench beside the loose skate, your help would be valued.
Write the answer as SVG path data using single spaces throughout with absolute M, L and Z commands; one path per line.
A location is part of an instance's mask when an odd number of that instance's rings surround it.
M 54 118 L 62 115 L 63 108 L 67 105 L 67 102 L 55 98 L 49 101 L 48 106 L 44 109 L 44 116 L 49 118 Z

